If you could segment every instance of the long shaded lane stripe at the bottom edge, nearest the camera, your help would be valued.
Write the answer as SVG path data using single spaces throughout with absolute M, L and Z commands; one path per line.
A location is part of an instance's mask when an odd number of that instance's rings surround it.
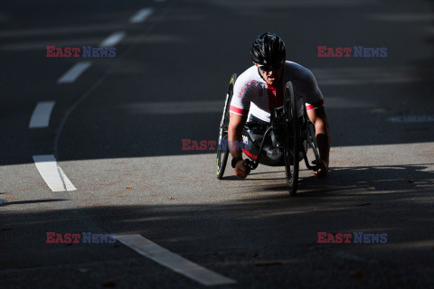
M 200 284 L 212 286 L 237 283 L 228 277 L 212 272 L 182 256 L 172 253 L 140 235 L 116 235 L 116 238 L 121 243 L 127 245 L 127 247 L 131 247 L 138 254 L 146 256 L 156 263 L 189 277 Z

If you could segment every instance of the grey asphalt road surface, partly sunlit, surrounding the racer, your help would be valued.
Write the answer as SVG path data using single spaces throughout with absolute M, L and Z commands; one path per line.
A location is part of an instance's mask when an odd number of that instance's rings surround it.
M 1 3 L 0 287 L 433 287 L 433 8 Z M 228 165 L 218 181 L 215 151 L 182 149 L 183 139 L 216 140 L 231 74 L 250 66 L 250 43 L 266 31 L 313 71 L 331 127 L 329 177 L 302 164 L 295 198 L 283 167 L 241 181 Z M 108 40 L 116 57 L 46 57 L 46 46 Z M 317 57 L 317 46 L 360 45 L 387 57 Z M 86 68 L 76 79 L 60 81 L 77 65 Z M 42 102 L 52 111 L 33 127 Z M 136 245 L 51 244 L 47 232 L 136 236 Z M 387 242 L 319 244 L 318 232 Z

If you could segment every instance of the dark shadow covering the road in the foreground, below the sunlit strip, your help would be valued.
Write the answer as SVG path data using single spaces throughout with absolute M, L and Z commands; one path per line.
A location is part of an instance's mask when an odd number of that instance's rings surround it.
M 290 198 L 280 192 L 231 203 L 191 205 L 172 201 L 160 205 L 4 213 L 0 269 L 16 270 L 2 278 L 8 284 L 16 275 L 30 274 L 19 268 L 45 270 L 47 266 L 56 266 L 56 272 L 63 275 L 65 271 L 87 268 L 90 262 L 111 262 L 113 258 L 130 262 L 132 257 L 140 257 L 118 243 L 46 244 L 46 232 L 92 231 L 140 234 L 236 279 L 244 287 L 264 282 L 269 285 L 270 278 L 277 278 L 278 283 L 274 284 L 277 288 L 314 287 L 324 284 L 331 275 L 335 286 L 427 286 L 433 282 L 434 239 L 430 225 L 434 219 L 432 214 L 427 214 L 430 205 L 423 200 L 431 191 L 429 188 L 414 190 L 431 182 L 433 172 L 423 172 L 424 168 L 339 168 L 327 182 L 318 184 L 312 178 L 303 179 L 300 186 L 307 191 L 301 198 Z M 404 172 L 407 174 L 403 175 Z M 413 176 L 414 183 L 408 182 L 408 175 Z M 335 178 L 342 176 L 346 178 L 347 189 L 363 187 L 362 192 L 319 188 L 334 186 Z M 316 191 L 309 191 L 312 189 Z M 152 197 L 144 194 L 143 200 L 146 199 Z M 22 203 L 14 202 L 14 205 Z M 387 243 L 317 244 L 317 232 L 387 233 Z M 102 275 L 105 272 L 100 267 L 93 270 Z M 95 272 L 91 278 L 96 278 Z M 110 278 L 121 279 L 125 275 L 122 272 Z M 85 278 L 77 273 L 65 275 L 61 281 L 65 282 L 66 278 L 71 286 Z M 60 280 L 43 278 L 41 282 Z

